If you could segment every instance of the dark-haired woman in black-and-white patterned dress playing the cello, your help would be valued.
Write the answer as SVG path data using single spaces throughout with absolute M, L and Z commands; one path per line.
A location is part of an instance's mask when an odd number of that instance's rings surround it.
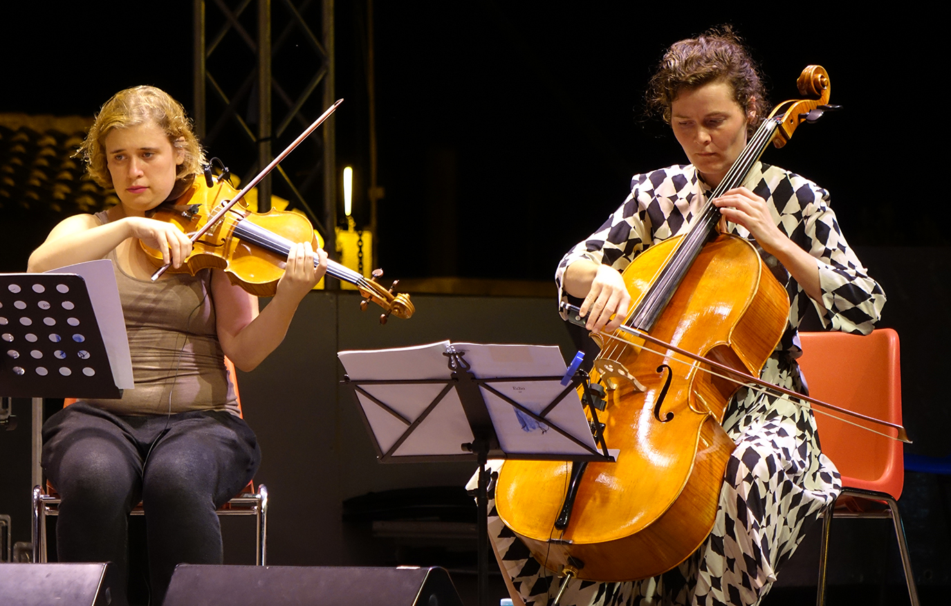
M 587 328 L 610 333 L 631 296 L 621 276 L 652 244 L 684 234 L 763 121 L 764 88 L 747 49 L 730 29 L 711 30 L 668 49 L 650 81 L 650 106 L 673 129 L 689 160 L 635 175 L 631 195 L 608 221 L 562 259 L 560 296 L 583 300 Z M 745 186 L 713 204 L 721 231 L 756 244 L 791 303 L 786 330 L 763 367 L 766 381 L 805 386 L 795 359 L 797 326 L 811 304 L 827 330 L 868 333 L 884 294 L 846 244 L 828 194 L 803 177 L 757 163 Z M 822 455 L 808 408 L 740 389 L 723 427 L 730 456 L 712 532 L 685 561 L 659 576 L 623 583 L 571 581 L 561 604 L 756 604 L 805 529 L 841 490 Z M 553 574 L 497 518 L 490 534 L 511 589 L 536 606 L 553 596 Z

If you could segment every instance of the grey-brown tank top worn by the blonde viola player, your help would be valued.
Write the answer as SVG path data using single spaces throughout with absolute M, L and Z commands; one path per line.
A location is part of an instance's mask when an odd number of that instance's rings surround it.
M 106 212 L 96 213 L 103 224 Z M 226 410 L 241 416 L 218 342 L 211 270 L 165 274 L 155 283 L 124 272 L 108 254 L 119 285 L 135 389 L 121 400 L 87 402 L 117 415 Z

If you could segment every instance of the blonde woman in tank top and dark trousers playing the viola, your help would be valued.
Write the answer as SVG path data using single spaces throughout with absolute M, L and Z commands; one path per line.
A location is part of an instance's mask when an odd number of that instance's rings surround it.
M 123 90 L 96 116 L 81 152 L 89 175 L 115 188 L 120 204 L 56 225 L 29 271 L 112 261 L 135 389 L 121 400 L 78 401 L 44 425 L 43 467 L 62 497 L 58 557 L 112 561 L 126 573 L 126 519 L 141 500 L 151 601 L 161 604 L 177 564 L 222 562 L 215 509 L 260 462 L 223 357 L 250 371 L 274 351 L 327 256 L 309 242 L 292 249 L 260 312 L 258 299 L 219 269 L 165 273 L 153 283 L 140 241 L 175 267 L 191 252 L 177 227 L 146 217 L 181 195 L 204 163 L 184 108 L 158 88 Z

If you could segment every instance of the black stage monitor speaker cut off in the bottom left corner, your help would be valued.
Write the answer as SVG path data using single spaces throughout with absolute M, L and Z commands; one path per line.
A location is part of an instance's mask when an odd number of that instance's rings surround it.
M 3 606 L 126 606 L 108 564 L 0 564 Z

